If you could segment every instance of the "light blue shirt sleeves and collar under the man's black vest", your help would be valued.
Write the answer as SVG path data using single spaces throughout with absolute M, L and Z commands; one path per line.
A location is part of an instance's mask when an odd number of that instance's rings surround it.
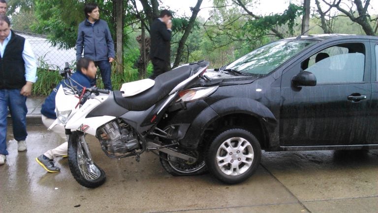
M 10 37 L 12 36 L 12 31 L 4 39 L 2 44 L 0 43 L 0 54 L 1 57 L 4 55 L 5 47 L 8 44 Z M 25 62 L 25 80 L 35 83 L 37 80 L 37 64 L 32 50 L 32 45 L 29 41 L 25 39 L 24 50 L 22 51 L 22 58 Z

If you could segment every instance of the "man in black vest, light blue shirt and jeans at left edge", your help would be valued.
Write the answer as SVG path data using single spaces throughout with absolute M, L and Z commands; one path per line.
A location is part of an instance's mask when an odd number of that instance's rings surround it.
M 13 136 L 18 151 L 25 151 L 26 98 L 36 81 L 36 61 L 30 43 L 10 30 L 8 17 L 0 14 L 0 165 L 5 163 L 7 107 L 12 116 Z

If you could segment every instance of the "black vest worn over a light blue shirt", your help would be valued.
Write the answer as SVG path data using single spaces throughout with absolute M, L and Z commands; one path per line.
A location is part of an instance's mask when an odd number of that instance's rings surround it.
M 4 55 L 0 56 L 0 89 L 20 89 L 25 85 L 24 44 L 25 38 L 12 31 Z

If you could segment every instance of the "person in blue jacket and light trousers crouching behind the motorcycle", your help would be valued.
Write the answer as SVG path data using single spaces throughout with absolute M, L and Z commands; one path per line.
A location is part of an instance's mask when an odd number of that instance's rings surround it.
M 71 82 L 73 86 L 77 89 L 82 89 L 83 87 L 91 87 L 90 81 L 96 76 L 96 67 L 95 63 L 88 58 L 81 58 L 77 61 L 76 72 L 71 75 Z M 41 114 L 42 114 L 42 123 L 49 128 L 51 124 L 57 119 L 55 114 L 55 96 L 57 95 L 57 90 L 60 85 L 63 87 L 66 86 L 65 82 L 67 80 L 63 79 L 57 87 L 50 93 L 46 98 L 45 103 L 42 105 Z M 64 126 L 56 125 L 51 129 L 56 134 L 58 134 L 63 140 L 67 140 L 65 136 Z M 62 143 L 60 146 L 46 151 L 44 154 L 39 155 L 35 160 L 39 165 L 43 167 L 47 172 L 57 173 L 61 169 L 55 166 L 55 157 L 66 157 L 68 149 L 68 142 Z

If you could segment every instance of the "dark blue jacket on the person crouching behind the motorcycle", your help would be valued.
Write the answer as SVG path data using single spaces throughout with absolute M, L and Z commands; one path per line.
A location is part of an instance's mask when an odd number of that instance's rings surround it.
M 90 78 L 83 74 L 81 71 L 76 71 L 71 75 L 71 79 L 73 86 L 76 86 L 77 89 L 82 89 L 83 87 L 91 87 Z M 44 116 L 51 118 L 51 119 L 57 119 L 57 115 L 55 114 L 55 96 L 57 95 L 57 92 L 60 85 L 63 87 L 66 87 L 64 84 L 65 79 L 63 79 L 57 87 L 50 93 L 49 96 L 47 96 L 45 103 L 43 103 L 41 108 L 41 114 Z M 76 81 L 77 83 L 75 83 Z M 79 101 L 79 100 L 78 100 Z

